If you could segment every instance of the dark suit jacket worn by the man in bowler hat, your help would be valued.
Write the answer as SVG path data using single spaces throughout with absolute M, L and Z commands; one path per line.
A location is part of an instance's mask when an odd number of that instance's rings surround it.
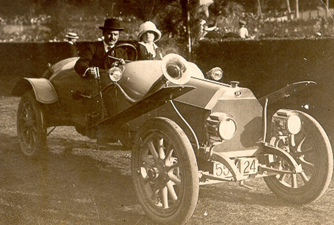
M 89 44 L 87 46 L 87 49 L 85 49 L 82 52 L 80 59 L 74 66 L 75 71 L 77 72 L 77 74 L 83 76 L 84 72 L 89 67 L 98 67 L 100 69 L 105 69 L 104 68 L 105 54 L 106 53 L 104 51 L 103 41 L 93 42 Z M 128 59 L 126 52 L 121 48 L 115 49 L 114 53 L 111 54 L 111 56 L 116 58 L 121 58 L 124 60 Z

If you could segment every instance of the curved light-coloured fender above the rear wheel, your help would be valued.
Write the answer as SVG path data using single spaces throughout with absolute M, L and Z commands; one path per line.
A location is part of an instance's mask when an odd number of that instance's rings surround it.
M 12 93 L 14 96 L 21 96 L 32 87 L 37 101 L 50 104 L 58 100 L 56 89 L 51 82 L 45 78 L 23 77 L 23 79 L 16 84 L 16 87 L 16 91 L 13 91 Z

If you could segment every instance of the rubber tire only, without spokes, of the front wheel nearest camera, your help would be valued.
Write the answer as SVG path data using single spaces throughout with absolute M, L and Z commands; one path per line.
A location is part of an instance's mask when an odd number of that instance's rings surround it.
M 143 180 L 143 176 L 139 172 L 141 163 L 141 146 L 142 143 L 146 141 L 146 138 L 152 134 L 163 134 L 172 140 L 172 144 L 174 145 L 173 152 L 176 152 L 179 156 L 177 161 L 180 163 L 179 167 L 181 168 L 181 173 L 183 175 L 181 178 L 183 188 L 180 188 L 180 193 L 182 194 L 181 196 L 178 196 L 177 201 L 179 202 L 171 213 L 168 213 L 167 210 L 164 211 L 153 204 L 141 183 L 141 180 Z M 143 125 L 143 127 L 141 127 L 136 136 L 134 149 L 132 151 L 131 173 L 135 192 L 140 205 L 151 220 L 159 224 L 174 225 L 184 224 L 189 220 L 195 210 L 198 200 L 198 168 L 190 141 L 183 130 L 175 122 L 167 118 L 157 117 L 149 120 Z

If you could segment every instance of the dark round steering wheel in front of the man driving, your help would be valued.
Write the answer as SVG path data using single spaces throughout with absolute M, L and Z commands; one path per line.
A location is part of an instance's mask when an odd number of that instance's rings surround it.
M 121 62 L 123 59 L 111 56 L 113 52 L 116 51 L 116 49 L 118 48 L 123 49 L 128 56 L 129 60 L 124 60 L 125 63 L 129 63 L 129 62 L 137 60 L 138 52 L 137 52 L 136 47 L 129 43 L 122 43 L 122 44 L 116 45 L 113 48 L 109 49 L 109 51 L 105 54 L 104 56 L 104 68 L 105 69 L 109 70 L 110 68 L 121 65 Z

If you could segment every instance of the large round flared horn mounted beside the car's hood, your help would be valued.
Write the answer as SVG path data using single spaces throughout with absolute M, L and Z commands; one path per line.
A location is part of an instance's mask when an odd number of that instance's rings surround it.
M 161 69 L 164 76 L 172 83 L 185 84 L 190 79 L 187 73 L 187 61 L 177 54 L 166 55 L 161 62 Z

